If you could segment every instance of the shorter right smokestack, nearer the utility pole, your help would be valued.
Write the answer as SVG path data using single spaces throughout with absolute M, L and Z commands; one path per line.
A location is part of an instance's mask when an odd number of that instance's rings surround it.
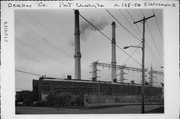
M 111 62 L 111 77 L 112 81 L 116 82 L 116 36 L 115 36 L 116 23 L 112 22 L 112 62 Z

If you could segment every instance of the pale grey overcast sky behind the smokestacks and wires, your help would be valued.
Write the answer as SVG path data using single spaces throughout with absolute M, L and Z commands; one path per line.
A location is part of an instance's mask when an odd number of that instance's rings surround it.
M 139 32 L 137 25 L 133 24 L 133 19 L 140 20 L 143 18 L 143 14 L 146 17 L 153 15 L 152 9 L 108 10 L 139 39 L 142 39 L 142 24 L 137 24 L 140 29 Z M 111 23 L 115 19 L 105 9 L 80 9 L 79 12 L 111 38 Z M 157 9 L 154 12 L 156 19 L 151 18 L 146 22 L 145 67 L 150 68 L 152 65 L 154 70 L 162 71 L 163 12 Z M 115 22 L 117 26 L 116 42 L 121 48 L 140 44 L 140 41 L 129 34 L 117 21 Z M 80 28 L 82 79 L 89 79 L 91 78 L 89 73 L 91 67 L 89 66 L 92 62 L 98 60 L 102 63 L 111 63 L 111 42 L 81 17 Z M 131 54 L 134 50 L 135 48 L 129 48 L 125 51 Z M 141 67 L 132 59 L 125 62 L 128 56 L 119 48 L 116 48 L 116 55 L 118 65 L 126 64 L 126 66 Z M 137 49 L 132 57 L 141 63 L 141 49 Z M 72 9 L 15 10 L 15 68 L 58 78 L 65 78 L 67 75 L 74 77 L 74 11 Z M 101 70 L 98 72 L 98 75 L 101 76 L 98 80 L 111 80 L 110 69 L 101 67 L 98 69 Z M 117 71 L 118 74 L 119 71 Z M 128 79 L 126 82 L 135 80 L 135 82 L 140 83 L 140 75 L 141 73 L 129 71 L 128 75 L 125 75 L 125 78 Z M 16 90 L 32 90 L 32 79 L 38 79 L 38 76 L 16 71 L 15 78 Z M 160 81 L 162 81 L 162 77 L 159 78 L 158 76 L 158 85 Z

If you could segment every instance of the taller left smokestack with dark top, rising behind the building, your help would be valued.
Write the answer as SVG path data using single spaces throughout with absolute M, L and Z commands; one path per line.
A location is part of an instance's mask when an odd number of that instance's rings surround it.
M 80 53 L 80 30 L 79 30 L 79 11 L 75 10 L 75 79 L 81 79 L 81 53 Z

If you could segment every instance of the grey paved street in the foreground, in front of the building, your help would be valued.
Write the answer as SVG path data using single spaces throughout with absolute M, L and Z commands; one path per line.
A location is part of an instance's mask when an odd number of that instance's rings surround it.
M 152 112 L 160 105 L 146 105 L 145 112 Z M 163 110 L 160 111 L 163 113 Z M 119 106 L 108 108 L 48 108 L 48 107 L 16 107 L 16 114 L 138 114 L 141 113 L 141 105 Z

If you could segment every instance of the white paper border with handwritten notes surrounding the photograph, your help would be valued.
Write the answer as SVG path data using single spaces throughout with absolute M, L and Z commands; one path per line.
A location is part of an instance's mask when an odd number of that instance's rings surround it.
M 43 2 L 47 4 L 46 7 L 39 7 L 39 3 Z M 178 1 L 149 1 L 152 3 L 161 4 L 174 4 L 176 7 L 134 7 L 131 6 L 127 9 L 140 9 L 140 8 L 161 8 L 163 9 L 163 29 L 164 29 L 164 114 L 47 114 L 47 115 L 16 115 L 15 114 L 15 39 L 14 39 L 14 10 L 15 9 L 64 9 L 60 8 L 60 2 L 70 3 L 83 3 L 87 4 L 103 4 L 105 8 L 121 9 L 121 7 L 114 7 L 114 4 L 121 3 L 140 3 L 143 4 L 146 1 L 1 1 L 1 116 L 2 119 L 57 119 L 57 118 L 172 118 L 175 119 L 179 116 L 179 2 Z M 148 2 L 148 1 L 147 1 Z M 17 8 L 8 7 L 8 4 L 27 4 L 32 5 L 31 8 Z M 68 7 L 65 9 L 77 9 L 76 6 Z M 81 9 L 81 8 L 78 8 Z M 87 8 L 94 9 L 94 8 Z M 125 8 L 124 8 L 125 9 Z M 7 22 L 7 24 L 5 24 Z M 5 25 L 8 26 L 8 30 L 5 30 Z M 7 34 L 6 34 L 7 33 Z M 7 37 L 7 38 L 6 38 Z M 169 40 L 170 39 L 170 40 Z

